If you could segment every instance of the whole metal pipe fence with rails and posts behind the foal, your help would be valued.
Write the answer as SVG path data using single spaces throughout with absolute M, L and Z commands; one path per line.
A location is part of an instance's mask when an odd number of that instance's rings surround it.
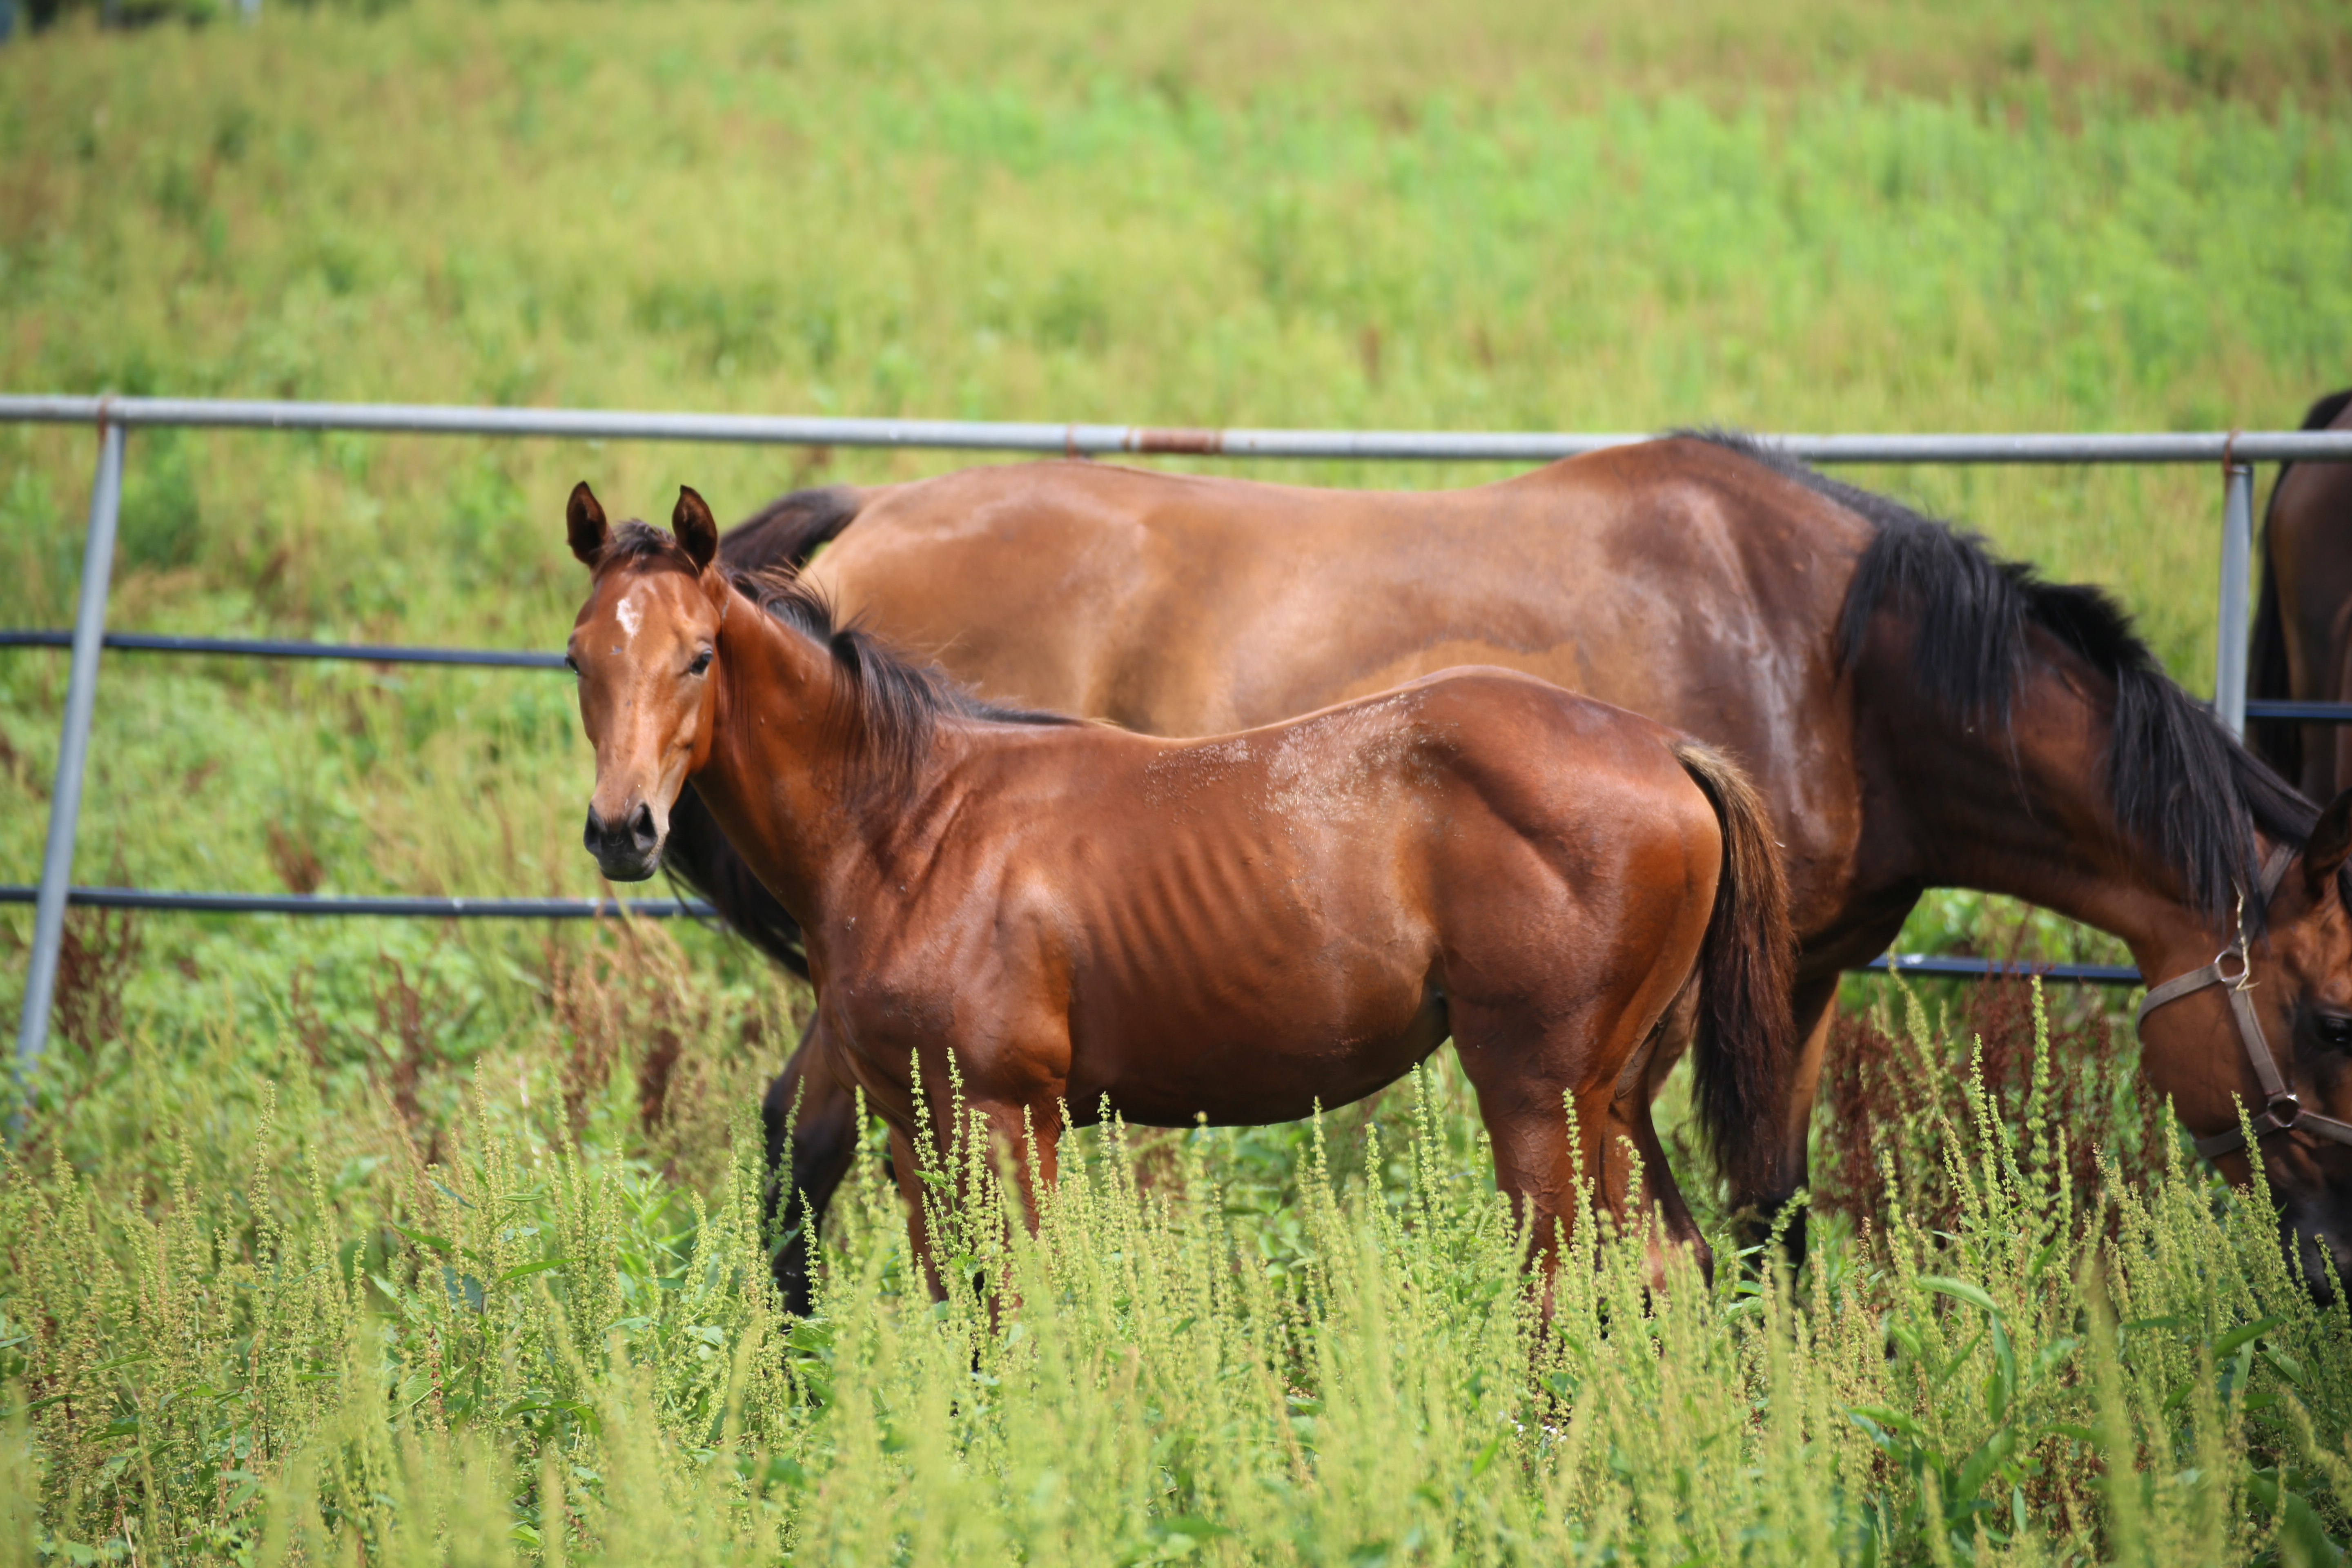
M 202 397 L 0 397 L 0 423 L 92 425 L 99 435 L 89 487 L 89 534 L 82 548 L 73 630 L 5 630 L 0 646 L 66 646 L 64 736 L 49 792 L 49 837 L 40 884 L 0 886 L 0 903 L 31 903 L 33 954 L 16 1027 L 19 1070 L 42 1051 L 56 985 L 66 905 L 193 910 L 226 914 L 386 914 L 386 917 L 588 917 L 708 914 L 694 900 L 593 898 L 325 898 L 275 893 L 179 893 L 155 889 L 75 889 L 73 837 L 89 762 L 89 719 L 99 689 L 99 651 L 214 654 L 254 658 L 350 658 L 367 663 L 440 663 L 562 668 L 555 654 L 499 649 L 405 649 L 339 642 L 240 637 L 153 637 L 106 630 L 115 520 L 122 503 L 125 430 L 148 425 L 233 430 L 355 430 L 381 435 L 494 435 L 557 440 L 748 442 L 767 447 L 908 447 L 934 451 L 1007 451 L 1040 456 L 1223 456 L 1359 458 L 1430 463 L 1548 463 L 1552 458 L 1649 440 L 1646 435 L 1517 435 L 1449 430 L 1171 430 L 1143 425 L 1047 425 L 936 418 L 767 418 L 743 414 L 626 414 L 595 409 L 463 409 L 365 402 L 238 402 Z M 2220 644 L 2213 670 L 2216 708 L 2232 733 L 2246 719 L 2352 722 L 2340 703 L 2246 701 L 2246 604 L 2253 564 L 2253 463 L 2352 461 L 2352 433 L 2244 430 L 2178 435 L 1780 435 L 1771 437 L 1809 463 L 2216 463 L 2223 470 Z M 2011 966 L 1985 959 L 1896 954 L 1870 969 L 1919 976 L 1987 976 Z M 2044 966 L 2053 980 L 2138 983 L 2138 971 L 2103 964 Z

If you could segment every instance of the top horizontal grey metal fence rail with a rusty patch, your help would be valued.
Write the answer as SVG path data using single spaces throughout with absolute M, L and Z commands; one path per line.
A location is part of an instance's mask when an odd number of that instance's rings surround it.
M 964 418 L 811 418 L 492 409 L 430 402 L 266 402 L 235 397 L 0 397 L 0 423 L 372 430 L 381 435 L 539 435 L 569 440 L 910 447 L 1061 456 L 1399 458 L 1543 463 L 1649 435 L 1510 430 L 1183 430 Z M 2352 461 L 2352 430 L 2192 430 L 2126 435 L 1766 435 L 1809 463 L 2317 463 Z

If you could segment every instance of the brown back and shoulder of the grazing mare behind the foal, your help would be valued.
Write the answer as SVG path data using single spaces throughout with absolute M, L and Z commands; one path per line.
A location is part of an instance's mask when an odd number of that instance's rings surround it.
M 1590 693 L 1738 757 L 1825 922 L 1860 823 L 1835 625 L 1870 536 L 1705 440 L 1442 491 L 1021 463 L 868 498 L 811 576 L 983 696 L 1157 736 L 1461 665 Z

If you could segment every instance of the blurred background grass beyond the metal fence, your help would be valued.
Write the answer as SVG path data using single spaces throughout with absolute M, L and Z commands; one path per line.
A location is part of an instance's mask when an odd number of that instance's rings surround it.
M 202 7 L 198 7 L 202 9 Z M 393 5 L 0 52 L 0 386 L 1138 423 L 2291 423 L 2352 376 L 2352 7 Z M 92 440 L 0 430 L 0 621 Z M 555 646 L 576 477 L 722 512 L 950 454 L 132 440 L 113 623 Z M 1331 484 L 1498 470 L 1254 465 Z M 1856 475 L 2117 585 L 2211 670 L 2201 470 Z M 31 879 L 64 661 L 0 656 Z M 80 877 L 574 893 L 548 675 L 111 656 Z M 2023 917 L 1938 898 L 1912 940 Z M 2037 950 L 2077 938 L 2044 929 Z M 21 943 L 24 910 L 0 914 Z M 134 1011 L 546 1013 L 548 938 L 165 919 Z M 757 964 L 687 931 L 748 1009 Z M 2079 945 L 2079 943 L 2077 943 Z M 2096 947 L 2096 943 L 2091 943 Z M 0 987 L 14 992 L 21 969 Z M 0 1006 L 12 1006 L 0 994 Z

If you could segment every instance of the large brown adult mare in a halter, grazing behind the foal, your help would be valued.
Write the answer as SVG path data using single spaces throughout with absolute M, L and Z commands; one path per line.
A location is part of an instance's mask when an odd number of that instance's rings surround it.
M 2234 940 L 2241 889 L 2317 811 L 2164 679 L 2096 590 L 2039 583 L 1964 534 L 1738 437 L 1677 437 L 1435 494 L 1367 494 L 1138 473 L 974 468 L 786 496 L 729 534 L 736 564 L 809 567 L 844 616 L 938 658 L 983 696 L 1218 733 L 1395 686 L 1444 665 L 1526 670 L 1646 712 L 1736 757 L 1790 872 L 1802 1048 L 1769 1187 L 1804 1182 L 1837 973 L 1893 940 L 1919 891 L 2013 893 L 2131 943 L 2169 978 Z M 2352 926 L 2328 872 L 2338 802 L 2256 933 L 2244 992 L 2286 1079 L 2352 1112 Z M 779 954 L 783 910 L 691 792 L 670 865 Z M 2197 1133 L 2263 1105 L 2232 1006 L 2204 990 L 2147 1018 L 2145 1072 Z M 1653 1058 L 1656 1067 L 1663 1051 Z M 847 1171 L 847 1093 L 823 1077 L 769 1126 L 821 1213 Z M 781 1154 L 781 1147 L 779 1147 Z M 2284 1225 L 2317 1284 L 2345 1258 L 2352 1150 L 2263 1138 Z M 2223 1168 L 2246 1180 L 2244 1154 Z M 1750 1166 L 1757 1168 L 1757 1166 Z M 1802 1229 L 1792 1227 L 1802 1246 Z M 779 1255 L 788 1293 L 800 1241 Z

